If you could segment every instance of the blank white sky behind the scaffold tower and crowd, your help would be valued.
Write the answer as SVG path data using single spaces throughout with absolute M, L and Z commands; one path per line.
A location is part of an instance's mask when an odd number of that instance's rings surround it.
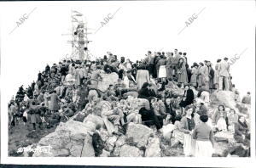
M 36 80 L 46 64 L 57 63 L 71 53 L 70 36 L 61 36 L 70 32 L 71 9 L 84 14 L 84 20 L 86 16 L 93 29 L 90 52 L 97 57 L 111 51 L 137 60 L 148 50 L 173 52 L 177 48 L 187 53 L 189 65 L 205 59 L 215 64 L 217 59 L 231 59 L 246 50 L 231 66 L 231 75 L 242 94 L 254 92 L 253 1 L 26 2 L 0 6 L 3 98 L 9 100 L 20 85 L 27 87 Z M 94 33 L 104 18 L 118 9 L 113 19 Z M 30 12 L 15 28 L 16 21 Z M 183 30 L 193 14 L 197 19 Z

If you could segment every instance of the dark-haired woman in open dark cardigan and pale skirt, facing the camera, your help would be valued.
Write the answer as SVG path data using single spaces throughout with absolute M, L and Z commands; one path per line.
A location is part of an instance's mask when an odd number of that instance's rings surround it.
M 185 156 L 193 156 L 195 154 L 195 140 L 192 138 L 192 132 L 195 128 L 193 107 L 191 104 L 185 108 L 186 115 L 180 121 L 181 132 L 184 133 L 183 153 Z

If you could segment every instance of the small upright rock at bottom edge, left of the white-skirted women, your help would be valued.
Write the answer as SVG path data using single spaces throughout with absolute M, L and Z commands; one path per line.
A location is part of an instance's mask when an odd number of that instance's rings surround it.
M 148 145 L 146 148 L 145 156 L 146 157 L 160 157 L 160 140 L 158 137 L 149 137 Z

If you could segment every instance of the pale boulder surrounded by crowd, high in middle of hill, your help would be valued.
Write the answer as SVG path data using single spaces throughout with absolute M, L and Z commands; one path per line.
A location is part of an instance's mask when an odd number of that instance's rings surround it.
M 101 76 L 102 76 L 102 81 L 98 81 L 97 88 L 102 92 L 106 92 L 108 90 L 109 85 L 116 84 L 119 79 L 119 76 L 115 72 L 111 74 L 102 73 Z

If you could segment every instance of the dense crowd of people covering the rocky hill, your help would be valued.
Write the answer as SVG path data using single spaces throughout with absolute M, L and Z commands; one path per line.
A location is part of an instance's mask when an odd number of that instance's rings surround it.
M 98 90 L 102 74 L 112 73 L 118 81 L 106 92 Z M 235 109 L 219 104 L 209 113 L 212 92 L 234 92 L 236 101 L 241 101 L 231 79 L 228 58 L 218 59 L 214 68 L 208 60 L 189 67 L 187 54 L 177 49 L 148 51 L 137 62 L 119 60 L 113 53 L 94 61 L 62 60 L 51 67 L 47 64 L 37 81 L 19 88 L 9 103 L 9 126 L 22 120 L 34 132 L 37 125 L 44 129 L 45 123 L 49 128 L 75 114 L 101 116 L 110 135 L 124 133 L 129 122 L 156 127 L 159 134 L 163 126 L 172 124 L 172 137 L 183 144 L 185 156 L 212 156 L 214 132 L 233 131 L 239 143 L 249 138 L 249 126 Z M 175 92 L 177 87 L 183 95 Z M 250 104 L 250 92 L 242 103 Z M 100 141 L 98 132 L 95 139 Z

